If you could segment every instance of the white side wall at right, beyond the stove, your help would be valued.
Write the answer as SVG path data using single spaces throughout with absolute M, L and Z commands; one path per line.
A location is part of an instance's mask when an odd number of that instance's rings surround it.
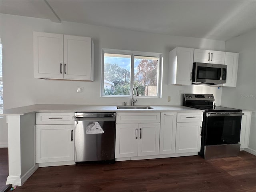
M 256 30 L 226 41 L 226 51 L 239 53 L 236 87 L 222 88 L 221 104 L 256 111 Z M 252 113 L 249 148 L 256 150 L 256 121 Z

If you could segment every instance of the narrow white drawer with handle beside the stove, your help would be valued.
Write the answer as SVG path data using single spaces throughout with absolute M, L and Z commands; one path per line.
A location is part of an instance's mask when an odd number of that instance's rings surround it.
M 177 113 L 177 122 L 202 122 L 203 112 Z

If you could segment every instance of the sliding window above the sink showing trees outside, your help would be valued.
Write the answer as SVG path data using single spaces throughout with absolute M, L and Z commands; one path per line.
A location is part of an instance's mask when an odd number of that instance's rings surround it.
M 103 50 L 102 96 L 160 97 L 160 54 Z

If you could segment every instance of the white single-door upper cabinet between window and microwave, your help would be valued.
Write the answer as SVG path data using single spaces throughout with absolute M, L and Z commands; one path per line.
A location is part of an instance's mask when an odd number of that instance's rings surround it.
M 176 47 L 169 52 L 168 85 L 191 85 L 193 48 Z

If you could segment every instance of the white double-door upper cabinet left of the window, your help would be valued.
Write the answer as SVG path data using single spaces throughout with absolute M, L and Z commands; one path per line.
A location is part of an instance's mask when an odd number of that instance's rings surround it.
M 93 81 L 92 38 L 34 32 L 34 77 Z

